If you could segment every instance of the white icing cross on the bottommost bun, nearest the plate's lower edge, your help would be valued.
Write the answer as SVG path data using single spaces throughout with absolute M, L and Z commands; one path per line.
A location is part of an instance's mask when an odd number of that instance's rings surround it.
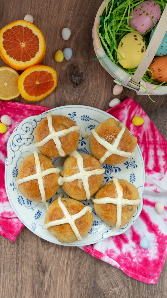
M 58 198 L 58 204 L 59 207 L 62 209 L 63 213 L 64 213 L 64 217 L 61 219 L 58 219 L 56 221 L 50 221 L 48 224 L 45 224 L 45 226 L 43 227 L 44 229 L 48 229 L 51 226 L 58 226 L 60 224 L 69 224 L 77 238 L 77 240 L 81 240 L 82 237 L 75 225 L 75 220 L 80 218 L 81 216 L 85 215 L 86 212 L 92 212 L 92 208 L 90 206 L 86 206 L 84 207 L 80 212 L 74 214 L 74 215 L 70 215 L 70 213 L 68 212 L 67 208 L 65 207 L 65 205 L 62 202 L 62 198 L 59 197 Z

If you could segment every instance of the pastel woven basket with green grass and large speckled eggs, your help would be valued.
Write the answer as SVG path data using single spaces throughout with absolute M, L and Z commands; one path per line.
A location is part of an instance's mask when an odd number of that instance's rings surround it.
M 94 50 L 116 83 L 137 94 L 167 94 L 167 0 L 105 0 Z

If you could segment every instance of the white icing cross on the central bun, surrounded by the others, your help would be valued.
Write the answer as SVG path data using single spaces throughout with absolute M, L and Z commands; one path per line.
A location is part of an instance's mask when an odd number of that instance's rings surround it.
M 83 167 L 83 157 L 75 150 L 70 153 L 70 156 L 74 156 L 77 159 L 77 165 L 79 168 L 79 173 L 74 174 L 72 176 L 59 177 L 58 184 L 63 185 L 64 182 L 72 182 L 77 179 L 81 179 L 83 183 L 83 188 L 86 192 L 86 199 L 90 199 L 90 190 L 89 190 L 89 182 L 88 179 L 92 175 L 101 175 L 105 172 L 104 169 L 95 169 L 92 171 L 85 171 Z

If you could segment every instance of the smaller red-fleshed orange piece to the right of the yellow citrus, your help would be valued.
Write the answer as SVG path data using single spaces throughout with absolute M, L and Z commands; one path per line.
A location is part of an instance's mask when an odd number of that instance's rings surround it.
M 29 101 L 38 101 L 50 94 L 57 86 L 57 73 L 52 67 L 34 65 L 19 77 L 18 89 Z

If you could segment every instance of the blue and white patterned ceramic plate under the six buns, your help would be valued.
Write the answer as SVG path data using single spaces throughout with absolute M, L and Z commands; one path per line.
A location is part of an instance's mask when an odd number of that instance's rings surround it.
M 96 108 L 82 106 L 82 105 L 66 105 L 50 110 L 53 115 L 59 114 L 70 117 L 81 126 L 81 133 L 86 131 L 89 135 L 91 130 L 100 122 L 112 117 L 110 114 L 98 110 Z M 93 203 L 91 200 L 82 201 L 85 205 L 91 205 L 93 209 L 93 226 L 89 231 L 87 237 L 83 237 L 81 241 L 76 241 L 71 244 L 60 243 L 48 230 L 44 230 L 44 218 L 46 207 L 42 203 L 29 201 L 26 199 L 18 189 L 15 187 L 15 181 L 18 174 L 18 167 L 25 156 L 32 153 L 36 148 L 34 147 L 34 129 L 37 124 L 46 117 L 48 112 L 37 116 L 32 116 L 23 120 L 17 128 L 14 129 L 7 144 L 7 160 L 5 167 L 5 186 L 10 204 L 22 221 L 22 223 L 30 229 L 34 234 L 48 240 L 50 242 L 66 245 L 66 246 L 83 246 L 101 241 L 109 236 L 119 235 L 125 232 L 136 221 L 142 209 L 142 202 L 138 205 L 136 213 L 133 218 L 126 224 L 126 226 L 111 230 L 108 224 L 105 224 L 94 212 Z M 116 119 L 117 120 L 117 119 Z M 37 150 L 37 149 L 36 149 Z M 78 151 L 89 154 L 89 138 L 83 139 L 80 134 Z M 144 162 L 141 151 L 137 145 L 134 150 L 135 157 L 128 159 L 122 164 L 110 166 L 103 164 L 105 169 L 103 184 L 116 176 L 119 179 L 126 179 L 133 183 L 139 191 L 142 200 L 142 192 L 144 189 Z M 62 170 L 64 158 L 55 158 L 52 160 L 55 167 Z M 58 193 L 62 192 L 59 187 Z M 66 194 L 64 194 L 66 196 Z M 48 200 L 49 203 L 56 197 L 56 195 Z

